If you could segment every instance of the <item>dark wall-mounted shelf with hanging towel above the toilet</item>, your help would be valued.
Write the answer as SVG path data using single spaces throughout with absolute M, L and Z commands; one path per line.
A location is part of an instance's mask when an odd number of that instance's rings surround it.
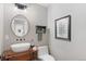
M 46 26 L 36 26 L 36 34 L 38 34 L 38 41 L 41 41 L 42 34 L 46 34 Z

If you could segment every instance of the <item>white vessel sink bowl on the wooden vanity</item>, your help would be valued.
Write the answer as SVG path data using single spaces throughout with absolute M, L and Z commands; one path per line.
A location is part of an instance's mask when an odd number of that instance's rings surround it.
M 15 43 L 11 46 L 13 52 L 27 51 L 30 48 L 30 43 Z

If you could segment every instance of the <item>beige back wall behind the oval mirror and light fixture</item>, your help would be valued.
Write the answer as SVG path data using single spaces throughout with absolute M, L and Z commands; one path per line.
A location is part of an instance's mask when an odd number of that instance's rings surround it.
M 4 50 L 10 48 L 10 44 L 16 42 L 30 42 L 34 39 L 34 44 L 47 44 L 47 37 L 44 35 L 42 41 L 38 42 L 36 35 L 36 25 L 47 26 L 47 8 L 44 8 L 38 4 L 27 4 L 28 8 L 24 11 L 16 9 L 14 4 L 7 3 L 4 4 Z M 10 27 L 11 20 L 13 16 L 22 14 L 26 16 L 30 24 L 29 33 L 23 37 L 25 41 L 16 41 L 19 37 L 16 37 Z

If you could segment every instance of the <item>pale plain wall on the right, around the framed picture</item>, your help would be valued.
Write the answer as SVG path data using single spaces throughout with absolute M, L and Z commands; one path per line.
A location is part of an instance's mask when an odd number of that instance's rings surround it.
M 50 51 L 57 60 L 86 61 L 86 4 L 51 4 L 48 10 Z M 54 38 L 54 20 L 71 14 L 72 40 Z

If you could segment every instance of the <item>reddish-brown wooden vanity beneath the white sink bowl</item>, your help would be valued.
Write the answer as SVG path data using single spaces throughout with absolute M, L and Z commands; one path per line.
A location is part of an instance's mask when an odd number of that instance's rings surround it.
M 28 51 L 24 52 L 13 52 L 8 50 L 3 52 L 4 61 L 34 61 L 37 60 L 37 51 L 34 51 L 32 48 Z

